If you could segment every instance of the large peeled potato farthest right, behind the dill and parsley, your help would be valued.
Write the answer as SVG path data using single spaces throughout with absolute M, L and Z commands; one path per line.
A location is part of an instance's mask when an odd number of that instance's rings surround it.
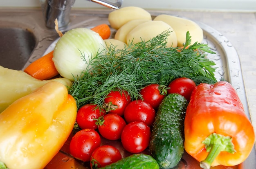
M 191 20 L 162 14 L 155 17 L 154 21 L 166 22 L 173 28 L 177 36 L 177 46 L 179 47 L 183 46 L 185 43 L 187 31 L 189 31 L 191 36 L 191 44 L 194 44 L 195 42 L 201 43 L 204 38 L 200 26 Z

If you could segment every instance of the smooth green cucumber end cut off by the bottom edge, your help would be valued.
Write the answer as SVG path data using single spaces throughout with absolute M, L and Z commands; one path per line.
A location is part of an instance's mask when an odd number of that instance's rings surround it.
M 150 155 L 132 154 L 100 169 L 159 169 L 159 165 Z

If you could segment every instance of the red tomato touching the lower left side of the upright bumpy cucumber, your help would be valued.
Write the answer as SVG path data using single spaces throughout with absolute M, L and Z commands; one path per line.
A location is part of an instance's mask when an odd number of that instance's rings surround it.
M 140 121 L 129 123 L 124 127 L 121 142 L 130 153 L 139 153 L 148 147 L 150 141 L 150 127 Z

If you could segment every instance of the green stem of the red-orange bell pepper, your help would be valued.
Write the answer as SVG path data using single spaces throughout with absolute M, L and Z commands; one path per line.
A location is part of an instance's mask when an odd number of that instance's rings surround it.
M 209 154 L 205 160 L 200 162 L 200 167 L 203 169 L 210 169 L 211 163 L 220 154 L 221 151 L 235 153 L 234 144 L 230 136 L 222 136 L 221 134 L 213 133 L 202 141 L 205 144 L 205 149 Z

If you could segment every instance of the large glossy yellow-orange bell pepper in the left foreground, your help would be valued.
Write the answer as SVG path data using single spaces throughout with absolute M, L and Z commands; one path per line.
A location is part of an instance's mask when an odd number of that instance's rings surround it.
M 43 169 L 72 132 L 76 101 L 56 81 L 0 113 L 0 162 L 9 169 Z

